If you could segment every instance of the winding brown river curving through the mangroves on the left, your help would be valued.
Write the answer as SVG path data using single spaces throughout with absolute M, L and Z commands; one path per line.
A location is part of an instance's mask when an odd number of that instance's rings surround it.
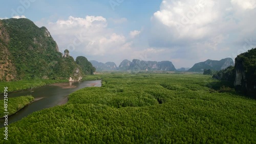
M 17 113 L 8 117 L 8 124 L 19 121 L 28 114 L 45 108 L 50 108 L 56 105 L 65 104 L 68 101 L 68 95 L 78 89 L 84 87 L 100 87 L 101 80 L 97 81 L 84 81 L 84 82 L 70 82 L 70 83 L 57 83 L 46 86 L 41 86 L 34 89 L 8 93 L 8 98 L 19 97 L 23 95 L 33 95 L 35 101 L 30 105 L 24 107 Z M 0 100 L 3 100 L 1 97 Z M 0 128 L 4 127 L 4 119 L 0 119 Z

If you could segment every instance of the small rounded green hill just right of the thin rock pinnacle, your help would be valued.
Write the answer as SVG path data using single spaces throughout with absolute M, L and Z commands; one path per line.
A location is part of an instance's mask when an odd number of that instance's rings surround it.
M 76 57 L 76 63 L 81 67 L 84 75 L 92 75 L 96 71 L 95 67 L 93 67 L 92 63 L 86 57 Z

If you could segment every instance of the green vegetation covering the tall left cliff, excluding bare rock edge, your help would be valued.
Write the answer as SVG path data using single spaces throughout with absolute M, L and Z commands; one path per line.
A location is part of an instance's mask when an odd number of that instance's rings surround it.
M 2 22 L 10 38 L 8 51 L 16 67 L 16 80 L 58 77 L 61 53 L 45 27 L 38 28 L 26 18 Z

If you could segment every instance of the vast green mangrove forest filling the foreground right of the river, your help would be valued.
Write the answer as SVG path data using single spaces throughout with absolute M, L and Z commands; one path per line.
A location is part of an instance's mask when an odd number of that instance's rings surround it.
M 9 126 L 9 143 L 255 143 L 256 101 L 204 75 L 102 74 L 102 87 Z M 226 88 L 222 88 L 226 90 Z M 3 131 L 3 129 L 1 129 Z M 2 135 L 3 137 L 3 135 Z M 0 143 L 4 139 L 0 139 Z

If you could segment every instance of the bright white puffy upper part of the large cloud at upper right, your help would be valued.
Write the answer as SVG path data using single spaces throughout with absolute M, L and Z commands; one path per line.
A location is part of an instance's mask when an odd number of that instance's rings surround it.
M 214 23 L 221 13 L 216 11 L 215 1 L 163 1 L 160 11 L 154 13 L 153 21 L 159 21 L 169 29 L 174 38 L 205 37 L 211 31 L 209 23 Z

